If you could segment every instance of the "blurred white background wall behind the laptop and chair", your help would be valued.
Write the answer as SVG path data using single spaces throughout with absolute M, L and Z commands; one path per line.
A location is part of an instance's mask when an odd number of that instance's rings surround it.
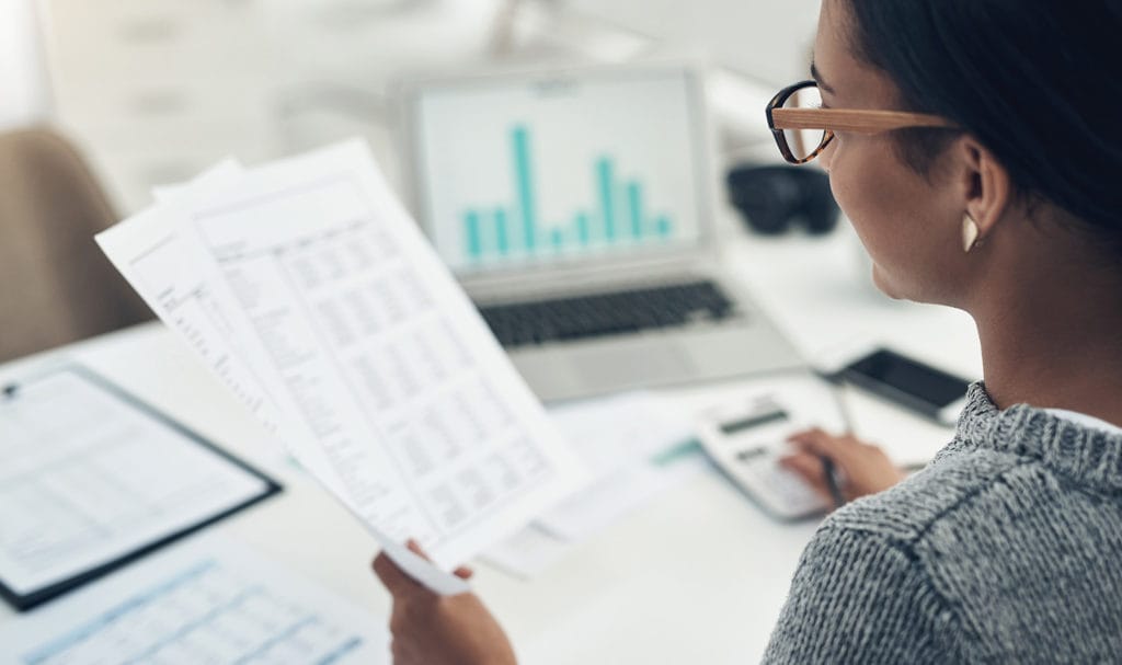
M 394 174 L 393 81 L 688 54 L 729 150 L 758 86 L 806 76 L 818 0 L 0 0 L 0 123 L 48 118 L 121 212 L 226 155 L 366 137 Z

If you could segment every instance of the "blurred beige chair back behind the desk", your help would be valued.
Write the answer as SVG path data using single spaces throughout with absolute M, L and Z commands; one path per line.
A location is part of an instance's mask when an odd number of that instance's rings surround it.
M 96 243 L 117 221 L 75 149 L 0 135 L 0 361 L 151 317 Z

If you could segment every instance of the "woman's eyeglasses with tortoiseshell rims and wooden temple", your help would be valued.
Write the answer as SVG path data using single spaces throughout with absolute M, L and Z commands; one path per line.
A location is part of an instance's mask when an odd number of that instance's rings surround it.
M 954 122 L 923 113 L 824 109 L 818 83 L 803 81 L 784 87 L 767 104 L 767 127 L 791 164 L 806 164 L 822 154 L 835 131 L 875 135 L 896 129 L 957 129 Z

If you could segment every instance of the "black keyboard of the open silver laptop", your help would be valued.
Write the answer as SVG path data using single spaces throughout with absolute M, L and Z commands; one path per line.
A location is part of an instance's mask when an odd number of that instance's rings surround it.
M 620 335 L 739 315 L 712 281 L 480 307 L 507 348 Z

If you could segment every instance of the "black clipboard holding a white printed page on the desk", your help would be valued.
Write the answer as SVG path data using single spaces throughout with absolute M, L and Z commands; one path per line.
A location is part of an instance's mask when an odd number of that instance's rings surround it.
M 93 371 L 0 395 L 0 597 L 29 610 L 282 487 Z

